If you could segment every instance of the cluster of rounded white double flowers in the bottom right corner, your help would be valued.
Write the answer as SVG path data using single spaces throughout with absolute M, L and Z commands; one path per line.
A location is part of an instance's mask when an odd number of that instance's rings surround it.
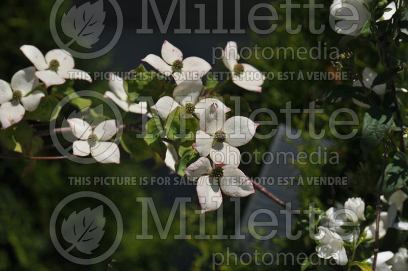
M 408 196 L 401 190 L 394 192 L 388 200 L 381 196 L 382 202 L 389 207 L 388 211 L 380 213 L 379 239 L 387 234 L 389 228 L 408 230 L 408 222 L 397 221 L 397 214 L 402 213 L 403 202 L 407 198 Z M 331 207 L 324 213 L 319 220 L 319 233 L 315 235 L 318 257 L 333 258 L 337 264 L 346 265 L 349 260 L 354 260 L 354 253 L 349 254 L 352 255 L 352 259 L 348 259 L 346 248 L 355 251 L 360 244 L 368 246 L 375 241 L 375 220 L 361 230 L 361 226 L 367 221 L 365 209 L 365 203 L 361 198 L 350 198 L 344 205 L 338 204 L 337 208 Z M 372 264 L 372 260 L 373 257 L 364 260 L 363 263 Z M 395 255 L 391 252 L 382 252 L 378 254 L 377 268 L 391 270 L 393 266 L 392 270 L 406 270 L 398 269 L 397 266 L 408 266 L 407 260 L 406 249 L 400 249 Z

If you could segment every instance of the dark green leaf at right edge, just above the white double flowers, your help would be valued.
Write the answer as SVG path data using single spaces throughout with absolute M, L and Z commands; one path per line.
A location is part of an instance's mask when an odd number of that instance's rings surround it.
M 389 163 L 384 171 L 384 185 L 382 193 L 391 193 L 397 190 L 408 179 L 408 160 L 406 154 L 395 152 L 393 161 Z M 379 185 L 380 180 L 378 181 Z

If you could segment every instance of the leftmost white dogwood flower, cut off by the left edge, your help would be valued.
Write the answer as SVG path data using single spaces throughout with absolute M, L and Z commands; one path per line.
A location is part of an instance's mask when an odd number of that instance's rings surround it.
M 17 71 L 11 78 L 11 87 L 6 81 L 0 80 L 0 122 L 3 129 L 19 122 L 25 110 L 37 109 L 41 98 L 45 96 L 40 90 L 31 93 L 37 86 L 34 67 Z

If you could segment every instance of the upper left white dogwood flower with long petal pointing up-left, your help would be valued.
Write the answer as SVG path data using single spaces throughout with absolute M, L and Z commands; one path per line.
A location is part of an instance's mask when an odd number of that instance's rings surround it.
M 51 50 L 44 55 L 33 45 L 22 45 L 20 50 L 38 70 L 35 75 L 48 88 L 62 85 L 65 79 L 81 79 L 92 83 L 91 76 L 83 70 L 74 69 L 74 60 L 67 51 Z

